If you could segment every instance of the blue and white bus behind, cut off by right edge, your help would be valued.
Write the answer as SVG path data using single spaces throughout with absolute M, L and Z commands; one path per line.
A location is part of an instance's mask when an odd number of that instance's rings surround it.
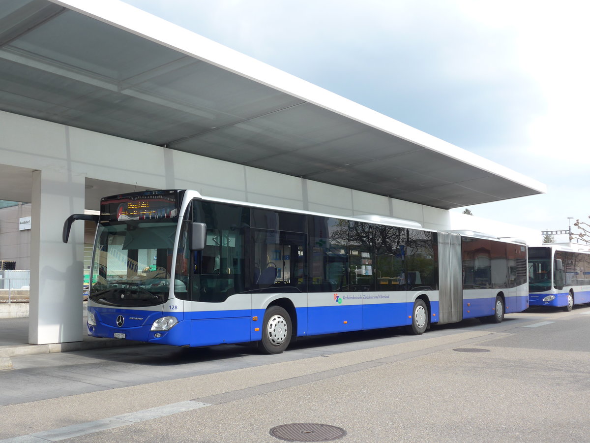
M 529 247 L 529 304 L 571 311 L 582 303 L 590 303 L 590 252 Z

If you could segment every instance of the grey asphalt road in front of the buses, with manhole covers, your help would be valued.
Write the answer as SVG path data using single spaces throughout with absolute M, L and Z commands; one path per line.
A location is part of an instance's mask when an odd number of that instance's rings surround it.
M 146 345 L 14 357 L 0 442 L 284 441 L 277 426 L 291 441 L 589 441 L 589 333 L 581 305 L 418 337 L 306 338 L 277 356 Z

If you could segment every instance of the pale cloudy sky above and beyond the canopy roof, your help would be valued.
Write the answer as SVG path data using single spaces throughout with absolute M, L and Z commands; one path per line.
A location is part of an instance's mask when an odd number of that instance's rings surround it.
M 124 1 L 548 185 L 476 216 L 590 223 L 590 2 Z

